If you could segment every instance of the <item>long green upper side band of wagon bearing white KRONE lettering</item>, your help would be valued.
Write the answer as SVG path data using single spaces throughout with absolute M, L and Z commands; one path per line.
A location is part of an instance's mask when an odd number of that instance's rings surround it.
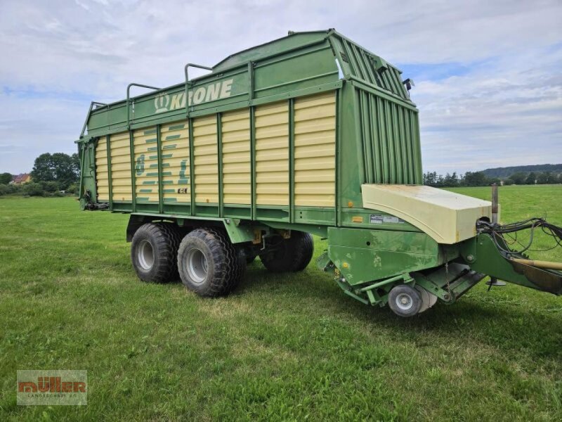
M 317 37 L 318 38 L 318 37 Z M 126 101 L 98 107 L 88 121 L 88 133 L 98 134 L 155 122 L 174 121 L 190 115 L 216 113 L 224 108 L 249 106 L 249 101 L 272 98 L 288 91 L 318 87 L 338 80 L 338 68 L 326 37 L 311 44 L 262 57 L 251 67 L 244 63 L 192 79 L 188 101 L 185 84 L 152 91 Z M 287 98 L 287 97 L 285 97 Z

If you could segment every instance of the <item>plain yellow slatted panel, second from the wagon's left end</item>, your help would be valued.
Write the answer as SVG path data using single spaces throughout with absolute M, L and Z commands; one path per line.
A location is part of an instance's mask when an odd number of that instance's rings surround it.
M 131 144 L 129 143 L 129 132 L 111 135 L 110 148 L 113 200 L 132 201 Z

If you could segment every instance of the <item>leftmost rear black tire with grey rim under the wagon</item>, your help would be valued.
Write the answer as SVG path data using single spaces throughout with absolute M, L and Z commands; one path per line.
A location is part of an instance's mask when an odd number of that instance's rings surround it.
M 181 241 L 173 223 L 148 223 L 140 226 L 131 243 L 131 262 L 139 279 L 166 283 L 179 278 L 177 255 Z

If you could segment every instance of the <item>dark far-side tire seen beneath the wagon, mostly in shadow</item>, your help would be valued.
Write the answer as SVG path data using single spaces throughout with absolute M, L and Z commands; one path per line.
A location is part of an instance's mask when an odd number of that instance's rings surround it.
M 259 255 L 263 266 L 271 272 L 302 271 L 311 262 L 314 241 L 310 234 L 291 231 L 291 237 L 283 239 L 280 245 Z

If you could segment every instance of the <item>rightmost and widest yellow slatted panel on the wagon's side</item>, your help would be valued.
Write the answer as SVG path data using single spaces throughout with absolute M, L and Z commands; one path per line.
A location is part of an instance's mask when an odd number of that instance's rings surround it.
M 294 204 L 336 205 L 335 91 L 294 102 Z

